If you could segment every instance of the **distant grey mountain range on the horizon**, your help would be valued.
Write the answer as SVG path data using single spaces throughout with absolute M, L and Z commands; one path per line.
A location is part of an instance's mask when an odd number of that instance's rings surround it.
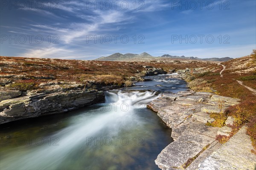
M 185 56 L 172 56 L 169 54 L 164 54 L 160 57 L 153 57 L 150 54 L 144 52 L 141 54 L 132 54 L 132 53 L 126 53 L 126 54 L 121 54 L 121 53 L 115 53 L 112 54 L 108 57 L 100 57 L 97 59 L 94 59 L 96 61 L 126 61 L 126 60 L 132 60 L 132 59 L 143 59 L 143 58 L 152 58 L 152 59 L 159 59 L 159 58 L 172 58 L 172 59 L 189 59 L 189 60 L 204 60 L 204 61 L 220 61 L 220 62 L 225 62 L 229 61 L 230 57 L 223 57 L 223 58 L 198 58 L 198 57 L 185 57 Z

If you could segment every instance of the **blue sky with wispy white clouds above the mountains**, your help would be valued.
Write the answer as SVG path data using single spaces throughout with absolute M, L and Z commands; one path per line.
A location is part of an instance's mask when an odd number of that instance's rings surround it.
M 0 55 L 95 59 L 120 52 L 242 57 L 256 0 L 0 1 Z

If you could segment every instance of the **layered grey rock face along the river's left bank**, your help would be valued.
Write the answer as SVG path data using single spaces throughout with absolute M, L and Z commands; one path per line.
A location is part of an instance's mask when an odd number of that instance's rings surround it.
M 67 93 L 37 94 L 0 102 L 0 124 L 18 119 L 72 111 L 104 101 L 103 91 L 73 90 Z

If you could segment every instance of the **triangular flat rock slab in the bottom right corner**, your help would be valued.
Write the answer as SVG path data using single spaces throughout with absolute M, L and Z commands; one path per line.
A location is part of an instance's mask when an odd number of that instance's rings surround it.
M 254 170 L 256 155 L 246 127 L 242 127 L 230 140 L 201 162 L 199 170 Z

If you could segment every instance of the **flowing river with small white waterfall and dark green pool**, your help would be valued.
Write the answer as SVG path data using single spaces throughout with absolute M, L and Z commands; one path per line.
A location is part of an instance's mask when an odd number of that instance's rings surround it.
M 0 169 L 158 169 L 154 160 L 172 142 L 171 129 L 146 105 L 156 91 L 177 92 L 186 83 L 150 78 L 137 83 L 144 92 L 106 91 L 105 103 L 1 125 Z

